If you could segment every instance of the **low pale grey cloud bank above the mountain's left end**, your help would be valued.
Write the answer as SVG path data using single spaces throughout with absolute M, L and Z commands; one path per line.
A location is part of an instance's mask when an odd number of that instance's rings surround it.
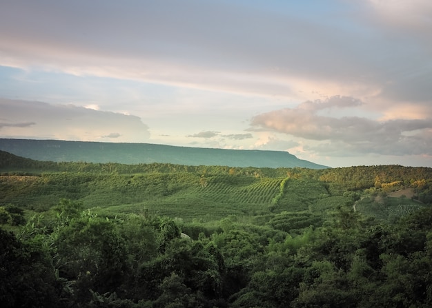
M 0 110 L 14 125 L 3 125 L 1 136 L 120 142 L 145 142 L 150 133 L 137 116 L 92 110 L 75 105 L 52 105 L 37 101 L 0 99 Z M 23 120 L 26 121 L 23 121 Z M 28 121 L 30 120 L 30 121 Z M 117 130 L 115 133 L 112 130 Z M 101 137 L 104 136 L 104 137 Z

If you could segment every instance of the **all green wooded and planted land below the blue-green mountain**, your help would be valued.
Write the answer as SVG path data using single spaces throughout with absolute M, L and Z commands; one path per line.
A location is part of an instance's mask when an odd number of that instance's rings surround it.
M 2 307 L 432 307 L 432 168 L 0 151 Z

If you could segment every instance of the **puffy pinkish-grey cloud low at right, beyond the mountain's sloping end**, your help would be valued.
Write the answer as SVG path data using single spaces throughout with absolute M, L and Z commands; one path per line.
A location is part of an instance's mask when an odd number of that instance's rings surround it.
M 321 154 L 432 154 L 432 119 L 377 121 L 360 116 L 337 118 L 318 114 L 324 109 L 359 105 L 362 105 L 361 101 L 349 97 L 308 101 L 295 108 L 259 114 L 252 119 L 251 125 L 257 131 L 281 132 L 317 141 L 304 149 Z

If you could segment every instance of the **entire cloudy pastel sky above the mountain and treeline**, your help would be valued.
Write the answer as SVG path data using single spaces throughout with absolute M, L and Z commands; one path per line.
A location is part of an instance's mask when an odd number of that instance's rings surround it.
M 0 0 L 0 138 L 432 167 L 430 0 Z

